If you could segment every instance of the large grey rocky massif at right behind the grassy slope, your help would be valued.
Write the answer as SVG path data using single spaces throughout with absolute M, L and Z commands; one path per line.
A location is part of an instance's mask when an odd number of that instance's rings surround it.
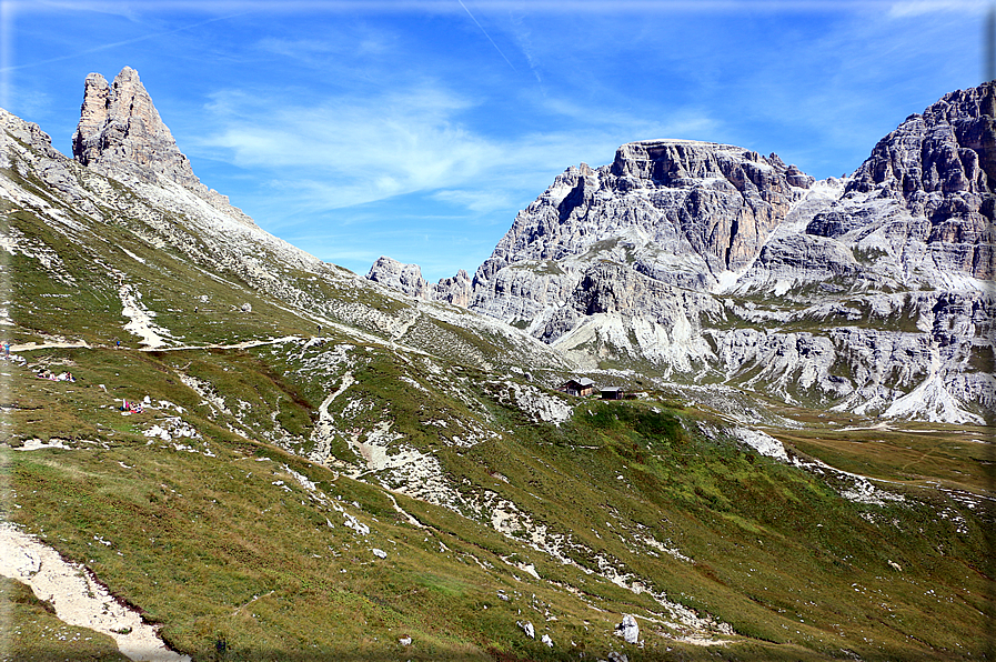
M 843 180 L 726 144 L 624 144 L 519 213 L 467 308 L 588 369 L 980 422 L 996 398 L 993 104 L 992 82 L 945 96 Z M 383 271 L 368 278 L 435 298 Z

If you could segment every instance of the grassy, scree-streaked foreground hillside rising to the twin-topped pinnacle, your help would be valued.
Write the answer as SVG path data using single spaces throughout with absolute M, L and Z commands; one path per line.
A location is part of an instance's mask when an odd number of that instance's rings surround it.
M 585 369 L 598 352 L 322 263 L 183 167 L 130 69 L 88 78 L 76 159 L 0 123 L 3 659 L 119 660 L 138 633 L 68 624 L 7 532 L 193 660 L 993 654 L 978 414 Z M 634 398 L 555 390 L 579 374 Z

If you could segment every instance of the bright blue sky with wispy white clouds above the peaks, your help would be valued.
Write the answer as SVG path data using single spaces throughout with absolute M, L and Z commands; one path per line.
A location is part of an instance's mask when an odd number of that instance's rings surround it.
M 817 179 L 983 80 L 980 0 L 0 0 L 0 106 L 71 153 L 83 79 L 134 68 L 194 172 L 365 273 L 474 269 L 570 165 L 634 140 Z

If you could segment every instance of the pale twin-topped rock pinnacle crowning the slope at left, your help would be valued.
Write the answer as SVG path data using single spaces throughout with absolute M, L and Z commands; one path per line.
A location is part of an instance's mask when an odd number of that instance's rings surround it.
M 108 81 L 91 73 L 83 83 L 80 123 L 72 137 L 72 154 L 101 174 L 121 181 L 149 184 L 175 182 L 212 205 L 252 223 L 227 195 L 208 189 L 177 147 L 173 134 L 159 117 L 138 72 L 125 67 Z

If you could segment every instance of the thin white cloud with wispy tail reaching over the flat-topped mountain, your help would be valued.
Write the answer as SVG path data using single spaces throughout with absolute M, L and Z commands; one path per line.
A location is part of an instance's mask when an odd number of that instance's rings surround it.
M 612 158 L 621 142 L 673 132 L 701 132 L 707 118 L 654 123 L 622 113 L 596 116 L 562 102 L 545 110 L 572 121 L 556 132 L 485 137 L 460 121 L 476 104 L 439 87 L 417 86 L 378 97 L 324 99 L 289 106 L 244 91 L 213 96 L 215 130 L 198 146 L 213 158 L 261 170 L 266 188 L 290 194 L 299 211 L 360 205 L 408 193 L 486 212 L 523 203 L 536 182 L 569 164 Z

